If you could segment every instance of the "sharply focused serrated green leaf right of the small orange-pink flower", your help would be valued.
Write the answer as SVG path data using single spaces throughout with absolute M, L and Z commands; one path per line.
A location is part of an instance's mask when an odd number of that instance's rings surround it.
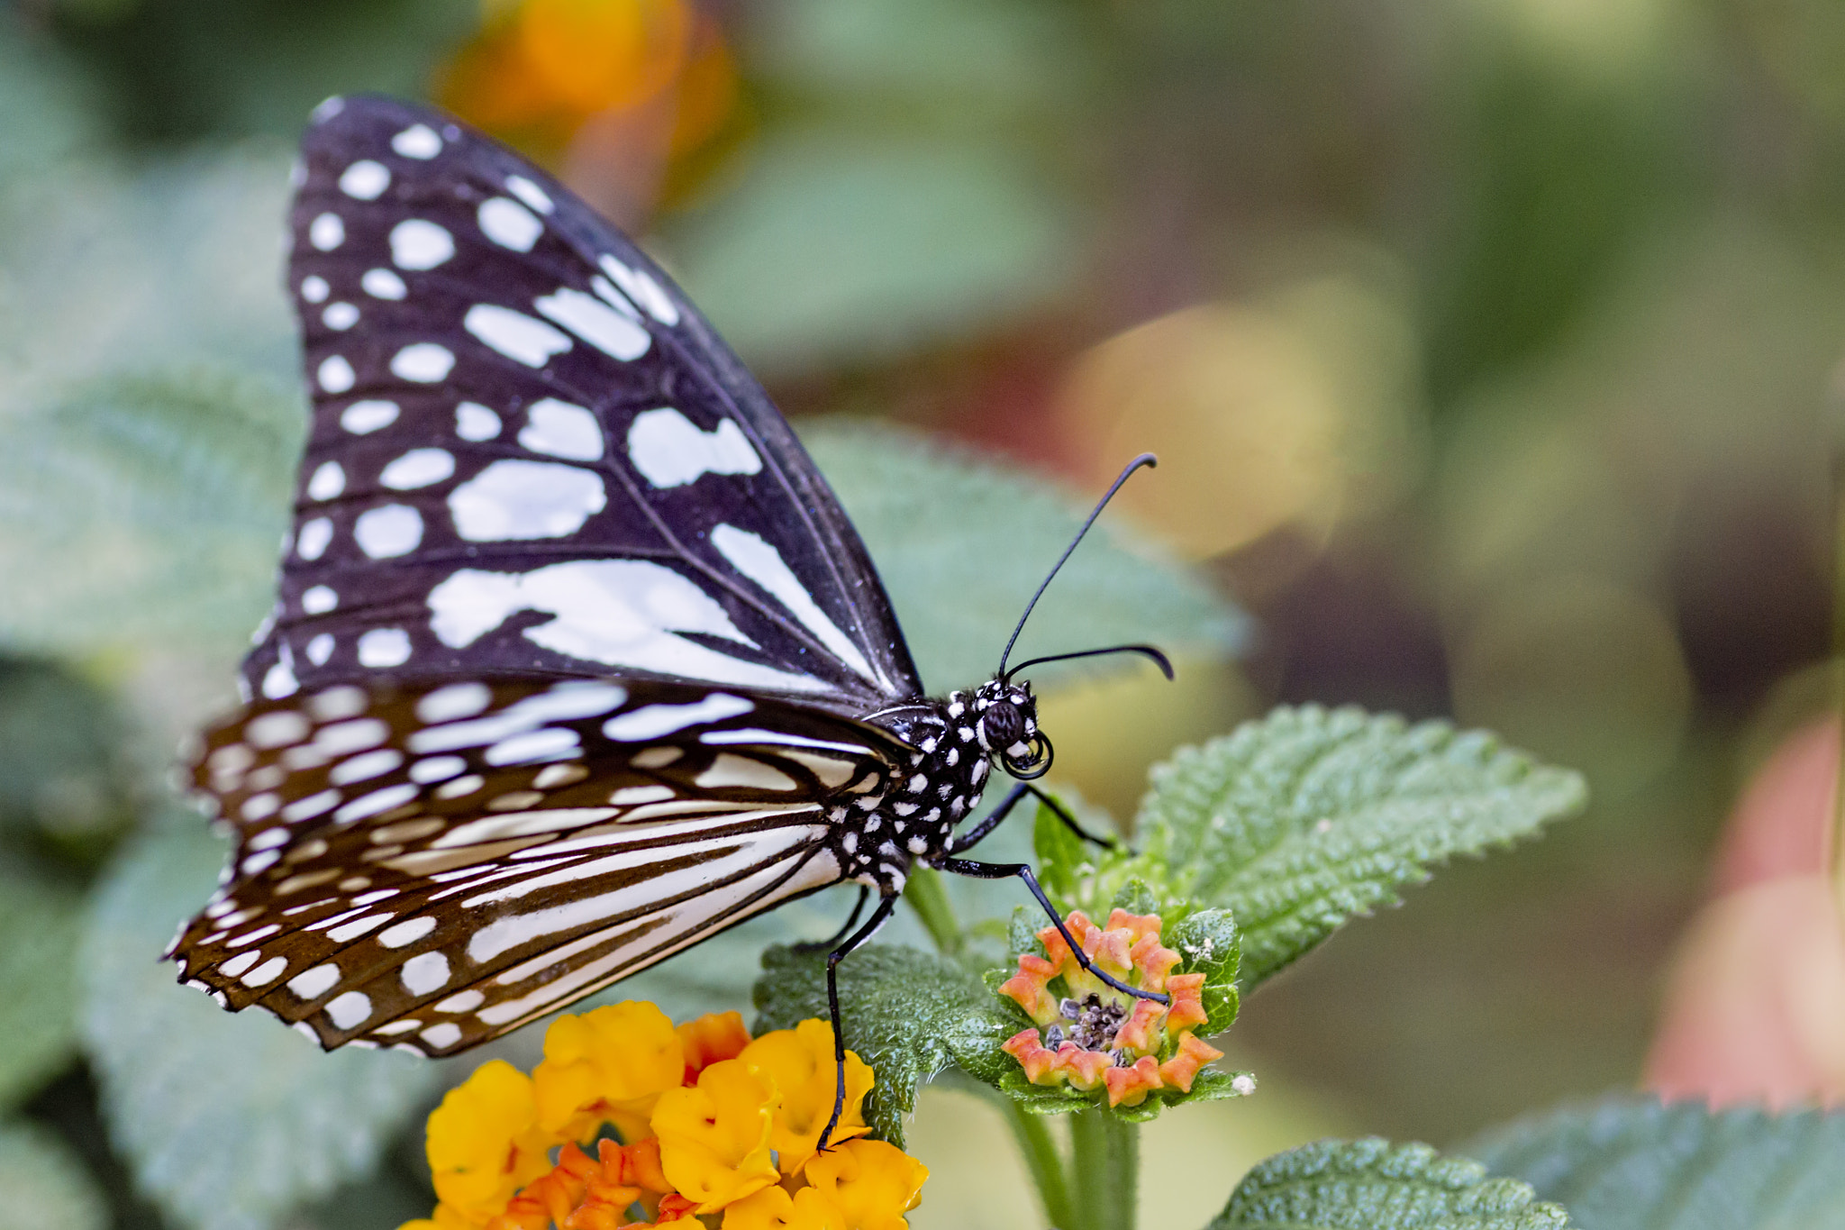
M 1491 734 L 1280 708 L 1153 769 L 1138 865 L 1236 917 L 1247 992 L 1430 865 L 1528 837 L 1585 797 L 1579 775 Z

